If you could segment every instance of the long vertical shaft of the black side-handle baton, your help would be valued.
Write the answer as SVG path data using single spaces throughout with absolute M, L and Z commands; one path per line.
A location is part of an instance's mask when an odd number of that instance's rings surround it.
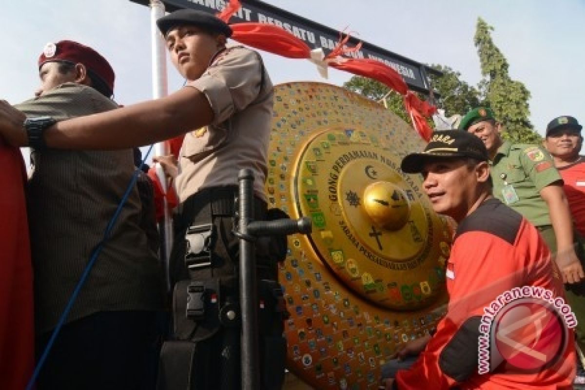
M 254 175 L 243 169 L 238 175 L 239 233 L 249 237 L 248 225 L 254 215 Z M 240 240 L 240 307 L 242 308 L 242 389 L 260 388 L 258 366 L 258 298 L 256 292 L 256 256 L 254 243 Z

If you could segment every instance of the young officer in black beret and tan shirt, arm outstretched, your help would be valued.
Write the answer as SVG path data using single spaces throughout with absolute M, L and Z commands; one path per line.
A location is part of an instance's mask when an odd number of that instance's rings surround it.
M 224 323 L 211 323 L 211 319 L 217 318 L 215 312 L 221 311 L 220 306 L 237 298 L 233 198 L 242 168 L 254 173 L 255 219 L 266 214 L 263 187 L 273 87 L 258 53 L 240 46 L 226 47 L 232 30 L 215 16 L 183 9 L 161 18 L 158 26 L 171 61 L 187 80 L 184 88 L 156 101 L 58 122 L 36 134 L 24 131 L 24 118 L 4 102 L 0 103 L 0 133 L 15 145 L 32 143 L 67 149 L 134 147 L 187 133 L 178 156 L 176 188 L 180 205 L 170 270 L 173 281 L 180 281 L 176 304 L 185 306 L 190 287 L 189 293 L 194 294 L 191 298 L 201 288 L 212 290 L 218 281 L 221 291 L 219 296 L 205 295 L 204 311 L 208 314 L 192 310 L 192 316 L 185 318 L 184 309 L 176 312 L 178 339 L 207 340 L 198 344 L 195 372 L 190 374 L 198 389 L 238 388 L 239 367 L 234 369 L 228 360 L 239 362 L 237 351 L 230 347 L 238 344 L 239 332 Z M 259 260 L 259 278 L 276 280 L 276 264 Z M 274 286 L 267 291 L 278 295 Z M 269 304 L 274 299 L 267 297 L 264 301 Z M 280 388 L 285 354 L 283 324 L 278 314 L 270 317 L 260 313 L 260 319 L 263 317 L 266 322 L 261 321 L 260 327 L 266 337 L 261 339 L 269 340 L 264 345 L 271 351 L 261 352 L 261 356 L 266 365 L 272 364 L 264 370 L 263 386 Z M 226 343 L 223 336 L 231 341 Z M 232 382 L 221 383 L 232 378 Z

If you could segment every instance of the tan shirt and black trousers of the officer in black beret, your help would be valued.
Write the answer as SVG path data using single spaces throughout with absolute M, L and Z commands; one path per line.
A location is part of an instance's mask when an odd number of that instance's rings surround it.
M 214 118 L 210 125 L 187 133 L 179 153 L 176 189 L 180 204 L 174 218 L 175 240 L 169 272 L 175 285 L 174 300 L 183 302 L 193 282 L 217 282 L 221 285 L 220 299 L 211 302 L 211 306 L 226 307 L 226 302 L 239 299 L 235 282 L 239 240 L 232 230 L 238 174 L 243 168 L 249 168 L 254 174 L 254 220 L 264 220 L 267 216 L 264 181 L 273 115 L 273 85 L 259 54 L 236 46 L 216 53 L 205 73 L 189 81 L 185 88 L 197 88 L 206 96 Z M 205 251 L 191 251 L 187 242 L 191 243 L 190 237 L 197 234 L 211 234 L 215 237 L 211 240 L 214 244 Z M 190 268 L 186 267 L 186 253 Z M 205 255 L 199 256 L 202 253 Z M 191 263 L 193 258 L 197 258 L 196 267 Z M 259 295 L 263 299 L 261 286 L 276 283 L 272 282 L 277 279 L 276 261 L 257 254 L 256 262 Z M 194 300 L 193 297 L 188 299 Z M 284 375 L 286 341 L 282 336 L 281 310 L 273 306 L 266 306 L 264 310 L 270 315 L 259 316 L 260 367 L 262 377 L 273 378 L 268 379 L 268 383 L 278 384 Z M 218 323 L 216 317 L 206 312 L 202 319 L 185 320 L 185 310 L 174 310 L 177 339 L 197 343 L 192 364 L 195 374 L 190 374 L 190 381 L 200 389 L 240 388 L 237 347 L 240 331 L 237 327 Z M 168 350 L 168 356 L 173 354 Z M 162 356 L 166 361 L 164 347 Z M 262 383 L 261 388 L 266 389 L 267 382 Z

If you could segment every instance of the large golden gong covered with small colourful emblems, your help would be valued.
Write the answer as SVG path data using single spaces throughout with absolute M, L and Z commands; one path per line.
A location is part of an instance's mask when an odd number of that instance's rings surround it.
M 418 134 L 383 106 L 316 82 L 275 87 L 269 206 L 309 216 L 280 267 L 288 368 L 318 389 L 377 388 L 400 343 L 436 324 L 450 229 L 400 170 Z M 439 309 L 438 309 L 439 308 Z

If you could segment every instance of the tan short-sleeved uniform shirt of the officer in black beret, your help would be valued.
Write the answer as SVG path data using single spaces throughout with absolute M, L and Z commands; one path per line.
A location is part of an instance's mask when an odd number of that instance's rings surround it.
M 241 46 L 223 50 L 187 85 L 205 94 L 214 119 L 185 135 L 176 179 L 179 201 L 203 188 L 237 185 L 242 168 L 254 172 L 254 193 L 266 201 L 273 87 L 259 54 Z

